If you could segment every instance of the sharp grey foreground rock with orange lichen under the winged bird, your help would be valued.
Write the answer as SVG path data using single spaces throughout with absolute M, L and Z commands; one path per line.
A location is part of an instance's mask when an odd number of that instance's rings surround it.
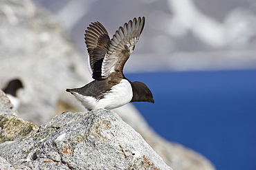
M 55 116 L 36 134 L 2 143 L 0 156 L 5 166 L 27 169 L 171 169 L 140 134 L 104 109 Z

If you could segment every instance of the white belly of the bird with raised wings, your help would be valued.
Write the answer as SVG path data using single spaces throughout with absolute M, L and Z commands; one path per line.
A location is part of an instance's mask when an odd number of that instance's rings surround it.
M 82 96 L 76 92 L 73 92 L 73 94 L 87 109 L 115 109 L 131 101 L 132 89 L 129 81 L 122 79 L 118 85 L 114 85 L 109 92 L 106 92 L 104 98 L 100 100 L 92 96 Z

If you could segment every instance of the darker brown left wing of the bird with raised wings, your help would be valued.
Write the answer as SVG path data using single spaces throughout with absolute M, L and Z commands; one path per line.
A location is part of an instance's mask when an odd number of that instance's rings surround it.
M 109 34 L 101 23 L 95 22 L 89 25 L 84 36 L 92 76 L 95 80 L 100 80 L 102 79 L 102 61 L 110 44 Z

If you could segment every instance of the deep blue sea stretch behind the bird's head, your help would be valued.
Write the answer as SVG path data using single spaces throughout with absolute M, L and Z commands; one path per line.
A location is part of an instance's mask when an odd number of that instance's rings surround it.
M 154 130 L 218 170 L 256 169 L 256 70 L 126 74 L 152 90 L 134 103 Z

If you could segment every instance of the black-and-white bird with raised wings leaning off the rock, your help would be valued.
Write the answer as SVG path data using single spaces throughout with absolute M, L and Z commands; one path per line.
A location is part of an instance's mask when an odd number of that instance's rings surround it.
M 120 27 L 110 40 L 100 22 L 91 23 L 84 39 L 94 81 L 80 88 L 66 89 L 66 92 L 71 92 L 89 110 L 115 109 L 130 102 L 154 103 L 147 85 L 131 82 L 123 74 L 144 25 L 145 17 L 134 18 Z

